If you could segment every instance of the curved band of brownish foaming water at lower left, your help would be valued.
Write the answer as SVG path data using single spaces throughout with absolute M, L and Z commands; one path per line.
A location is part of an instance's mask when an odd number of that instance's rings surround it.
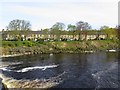
M 61 77 L 64 74 L 65 72 L 63 72 L 62 74 L 56 77 L 50 77 L 49 79 L 16 80 L 12 77 L 6 77 L 1 73 L 0 74 L 0 78 L 2 78 L 1 88 L 2 88 L 2 83 L 6 85 L 8 89 L 10 88 L 51 88 L 63 81 Z

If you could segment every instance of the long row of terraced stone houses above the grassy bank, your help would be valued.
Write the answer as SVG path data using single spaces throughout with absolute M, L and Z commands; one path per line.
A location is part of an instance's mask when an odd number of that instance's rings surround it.
M 44 33 L 41 31 L 29 31 L 29 32 L 12 32 L 12 31 L 2 31 L 2 39 L 3 40 L 94 40 L 94 39 L 106 39 L 107 35 L 103 33 L 80 33 L 80 34 L 51 34 Z M 112 37 L 111 37 L 112 38 Z

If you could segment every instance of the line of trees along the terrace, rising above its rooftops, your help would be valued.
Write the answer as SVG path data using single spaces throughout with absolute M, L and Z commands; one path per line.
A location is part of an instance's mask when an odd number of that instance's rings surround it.
M 20 35 L 21 33 L 27 35 L 28 33 L 30 33 L 29 31 L 32 30 L 29 21 L 16 19 L 10 21 L 8 26 L 6 27 L 6 30 L 3 29 L 2 31 L 13 31 L 12 33 L 10 33 L 12 35 Z M 116 39 L 118 32 L 116 27 L 110 28 L 109 26 L 101 26 L 99 30 L 93 30 L 92 26 L 88 22 L 84 21 L 79 21 L 75 25 L 68 24 L 67 27 L 62 22 L 56 22 L 51 28 L 41 29 L 38 31 L 41 31 L 42 33 L 47 35 L 56 35 L 58 38 L 61 34 L 73 35 L 73 37 L 74 35 L 79 35 L 79 40 L 81 35 L 85 35 L 85 37 L 87 37 L 88 34 L 106 34 L 107 39 L 110 39 L 112 35 L 112 38 Z

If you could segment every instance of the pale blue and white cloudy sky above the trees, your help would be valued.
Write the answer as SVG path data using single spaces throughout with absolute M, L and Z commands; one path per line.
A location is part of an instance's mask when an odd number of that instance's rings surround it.
M 1 0 L 0 30 L 14 19 L 30 21 L 32 30 L 50 28 L 56 22 L 75 25 L 88 22 L 93 29 L 118 24 L 119 0 Z

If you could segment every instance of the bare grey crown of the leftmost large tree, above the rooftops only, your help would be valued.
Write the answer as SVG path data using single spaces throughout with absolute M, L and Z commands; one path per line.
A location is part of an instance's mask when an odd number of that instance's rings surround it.
M 31 24 L 29 21 L 16 19 L 16 20 L 10 21 L 9 25 L 7 26 L 7 29 L 10 31 L 12 31 L 12 30 L 30 30 Z

